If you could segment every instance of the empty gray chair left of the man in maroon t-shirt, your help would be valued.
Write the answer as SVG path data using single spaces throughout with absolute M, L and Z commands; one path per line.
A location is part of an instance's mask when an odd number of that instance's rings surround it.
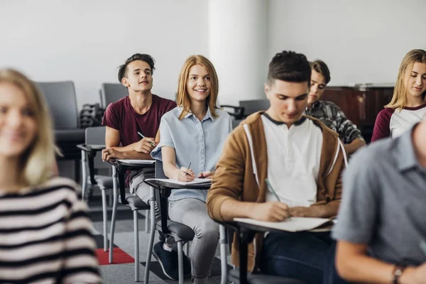
M 111 165 L 102 161 L 102 153 L 100 151 L 105 148 L 105 126 L 88 127 L 85 130 L 85 144 L 78 146 L 82 155 L 82 199 L 87 192 L 87 185 L 99 187 L 102 193 L 102 221 L 104 229 L 104 251 L 108 251 L 108 234 L 107 234 L 107 190 L 114 187 L 111 175 L 97 175 L 94 172 L 99 170 L 110 170 Z M 97 153 L 99 151 L 99 153 Z M 87 174 L 89 173 L 89 174 Z

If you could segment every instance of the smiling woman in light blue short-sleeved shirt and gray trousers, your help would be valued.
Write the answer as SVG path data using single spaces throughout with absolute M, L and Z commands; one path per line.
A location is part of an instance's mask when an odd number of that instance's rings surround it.
M 212 62 L 202 55 L 187 58 L 179 75 L 178 107 L 161 119 L 160 143 L 151 153 L 163 160 L 168 178 L 189 182 L 211 178 L 231 132 L 231 117 L 217 108 L 219 84 Z M 188 165 L 192 167 L 188 167 Z M 188 167 L 188 168 L 187 168 Z M 207 190 L 172 190 L 169 217 L 195 231 L 191 245 L 192 280 L 207 283 L 219 241 L 219 225 L 209 218 Z M 161 247 L 154 247 L 155 253 Z

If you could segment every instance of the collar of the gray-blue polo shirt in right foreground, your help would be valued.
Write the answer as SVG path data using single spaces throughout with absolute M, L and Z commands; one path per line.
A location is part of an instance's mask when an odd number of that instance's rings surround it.
M 395 156 L 397 158 L 396 160 L 398 161 L 398 168 L 401 172 L 410 170 L 412 168 L 422 169 L 422 167 L 417 162 L 413 147 L 412 134 L 417 124 L 415 124 L 409 131 L 405 131 L 402 136 L 397 138 L 399 141 L 396 145 Z

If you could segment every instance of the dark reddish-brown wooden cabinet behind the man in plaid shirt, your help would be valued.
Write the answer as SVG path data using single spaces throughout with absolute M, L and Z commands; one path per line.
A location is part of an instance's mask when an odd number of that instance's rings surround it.
M 369 142 L 374 121 L 385 104 L 391 102 L 393 84 L 358 84 L 354 87 L 326 87 L 321 99 L 337 104 Z

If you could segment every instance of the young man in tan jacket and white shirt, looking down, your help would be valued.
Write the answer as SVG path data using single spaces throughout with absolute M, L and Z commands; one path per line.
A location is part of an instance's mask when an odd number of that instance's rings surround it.
M 249 116 L 227 138 L 207 196 L 212 219 L 279 222 L 337 215 L 346 153 L 336 132 L 302 115 L 310 77 L 305 55 L 283 51 L 272 59 L 265 84 L 271 107 Z M 329 283 L 334 274 L 329 232 L 258 234 L 248 257 L 249 271 L 260 268 L 307 283 Z M 232 261 L 239 266 L 235 238 Z

